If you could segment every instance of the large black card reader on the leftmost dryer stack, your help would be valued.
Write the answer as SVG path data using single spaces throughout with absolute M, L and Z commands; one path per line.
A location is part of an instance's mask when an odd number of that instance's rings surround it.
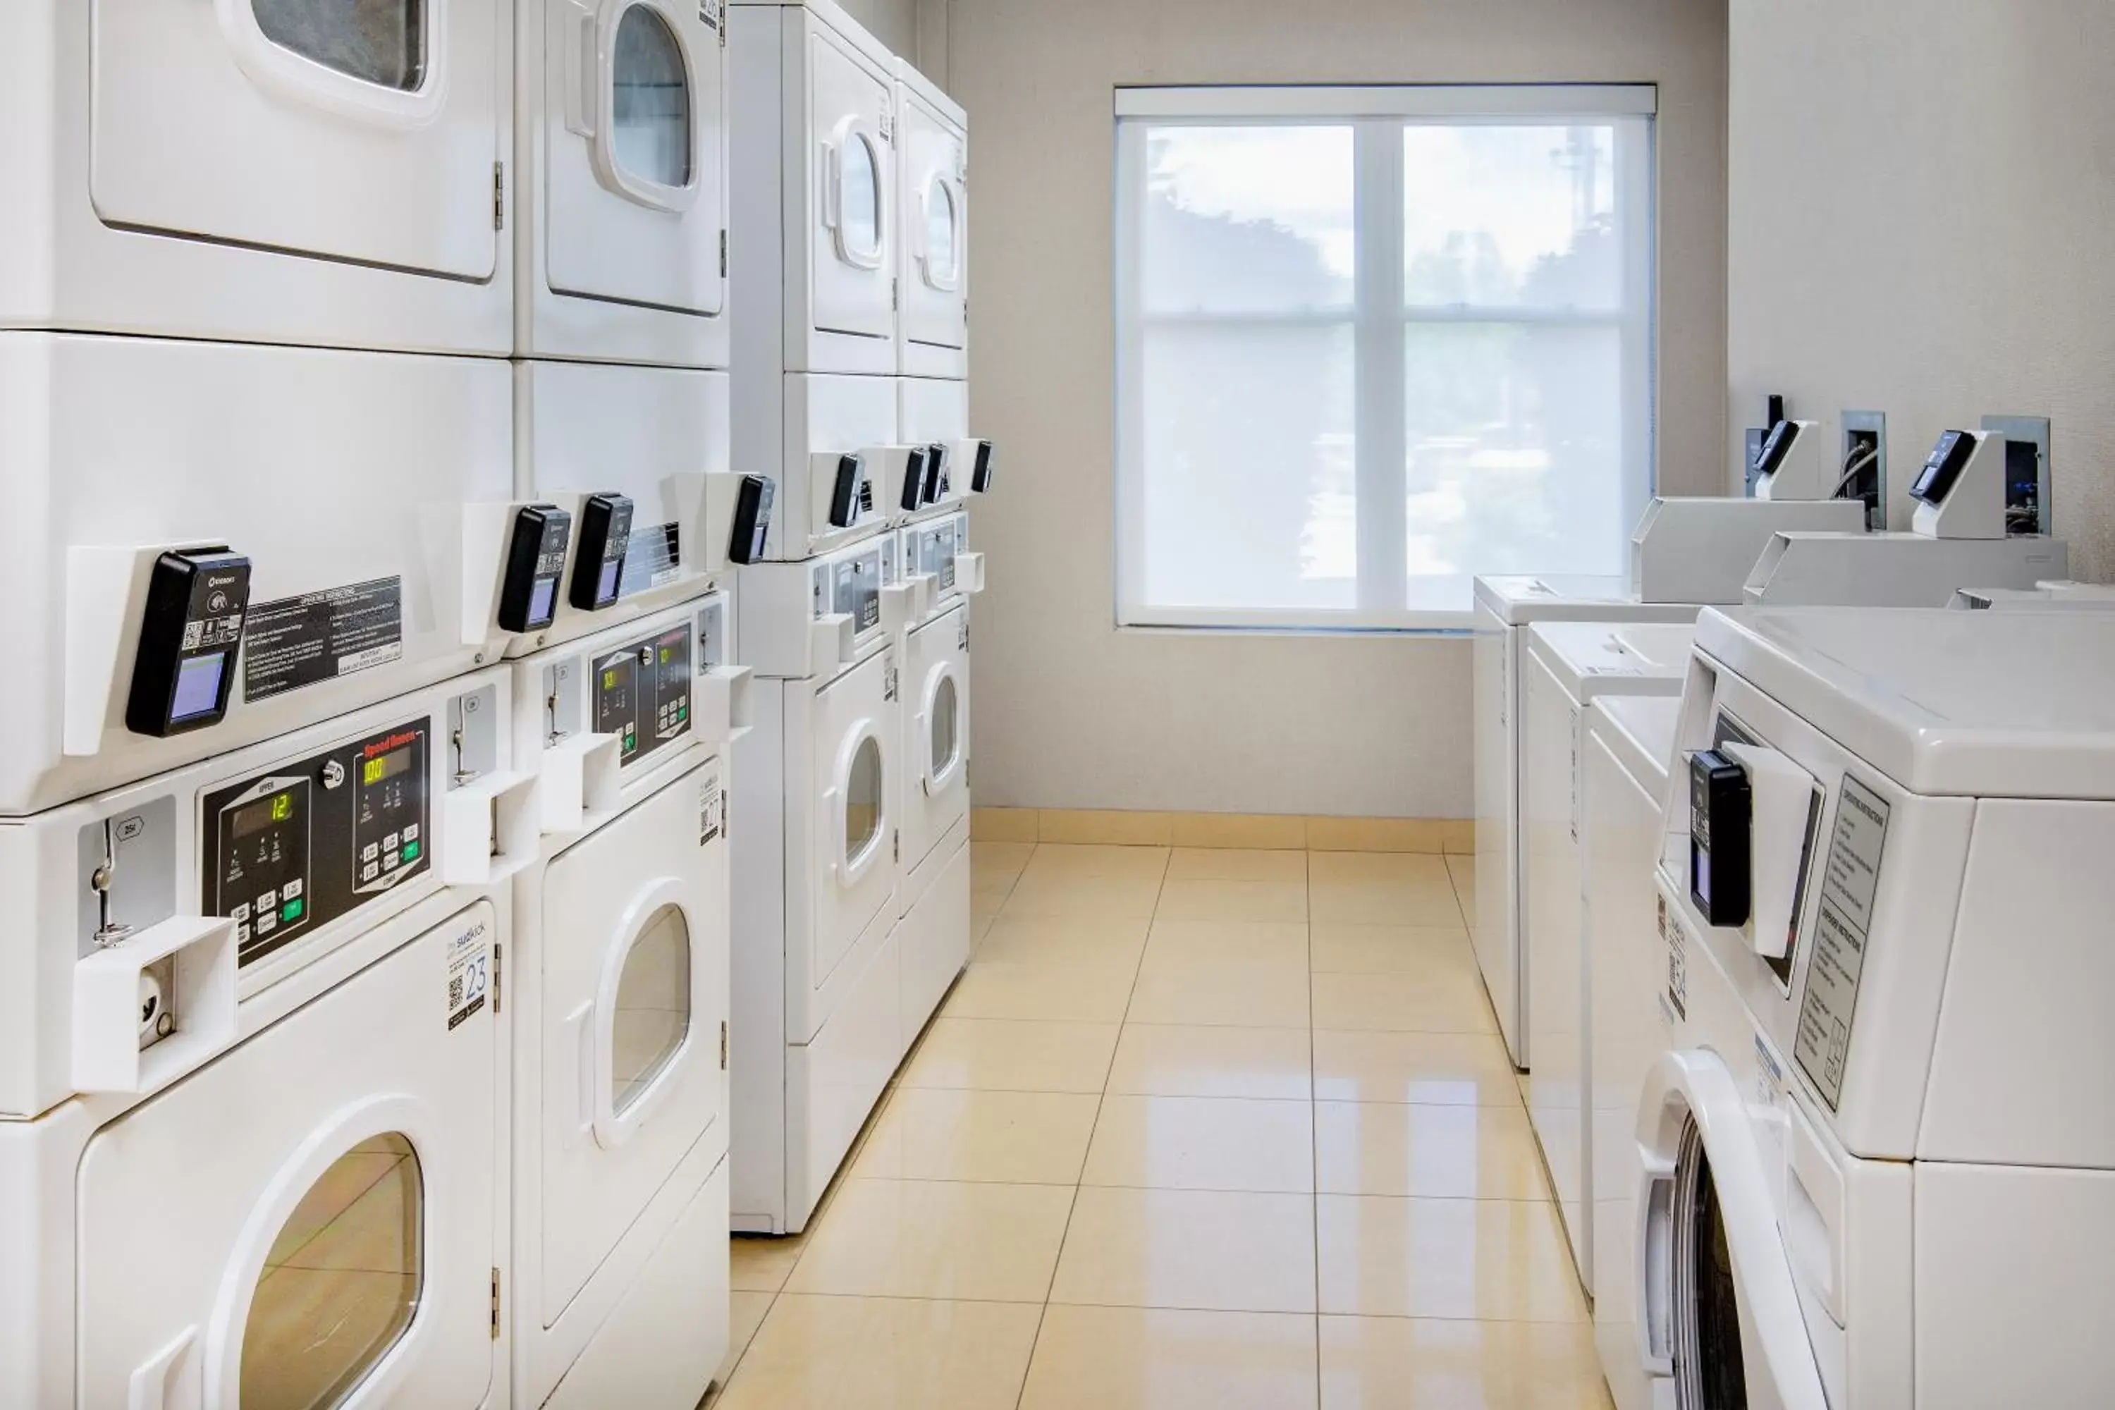
M 125 727 L 167 738 L 226 719 L 245 611 L 250 560 L 224 543 L 157 558 L 146 581 Z

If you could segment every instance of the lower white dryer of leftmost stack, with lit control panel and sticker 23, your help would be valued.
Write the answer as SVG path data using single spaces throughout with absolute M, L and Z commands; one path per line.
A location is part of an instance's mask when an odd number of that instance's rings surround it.
M 508 1404 L 508 687 L 0 820 L 0 1404 Z

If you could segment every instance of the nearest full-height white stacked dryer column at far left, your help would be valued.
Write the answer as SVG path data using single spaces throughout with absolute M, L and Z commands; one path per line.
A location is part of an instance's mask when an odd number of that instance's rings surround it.
M 510 23 L 0 17 L 4 1404 L 512 1393 Z

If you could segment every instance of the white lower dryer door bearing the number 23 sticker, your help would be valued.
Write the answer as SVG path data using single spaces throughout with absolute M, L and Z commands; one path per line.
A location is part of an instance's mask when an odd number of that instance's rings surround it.
M 78 1404 L 486 1402 L 495 934 L 478 903 L 89 1139 Z

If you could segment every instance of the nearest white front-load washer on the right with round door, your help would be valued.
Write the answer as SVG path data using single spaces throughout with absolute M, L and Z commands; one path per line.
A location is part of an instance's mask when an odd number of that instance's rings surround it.
M 2115 621 L 1707 613 L 1673 767 L 1645 1372 L 1677 1406 L 2104 1402 Z

